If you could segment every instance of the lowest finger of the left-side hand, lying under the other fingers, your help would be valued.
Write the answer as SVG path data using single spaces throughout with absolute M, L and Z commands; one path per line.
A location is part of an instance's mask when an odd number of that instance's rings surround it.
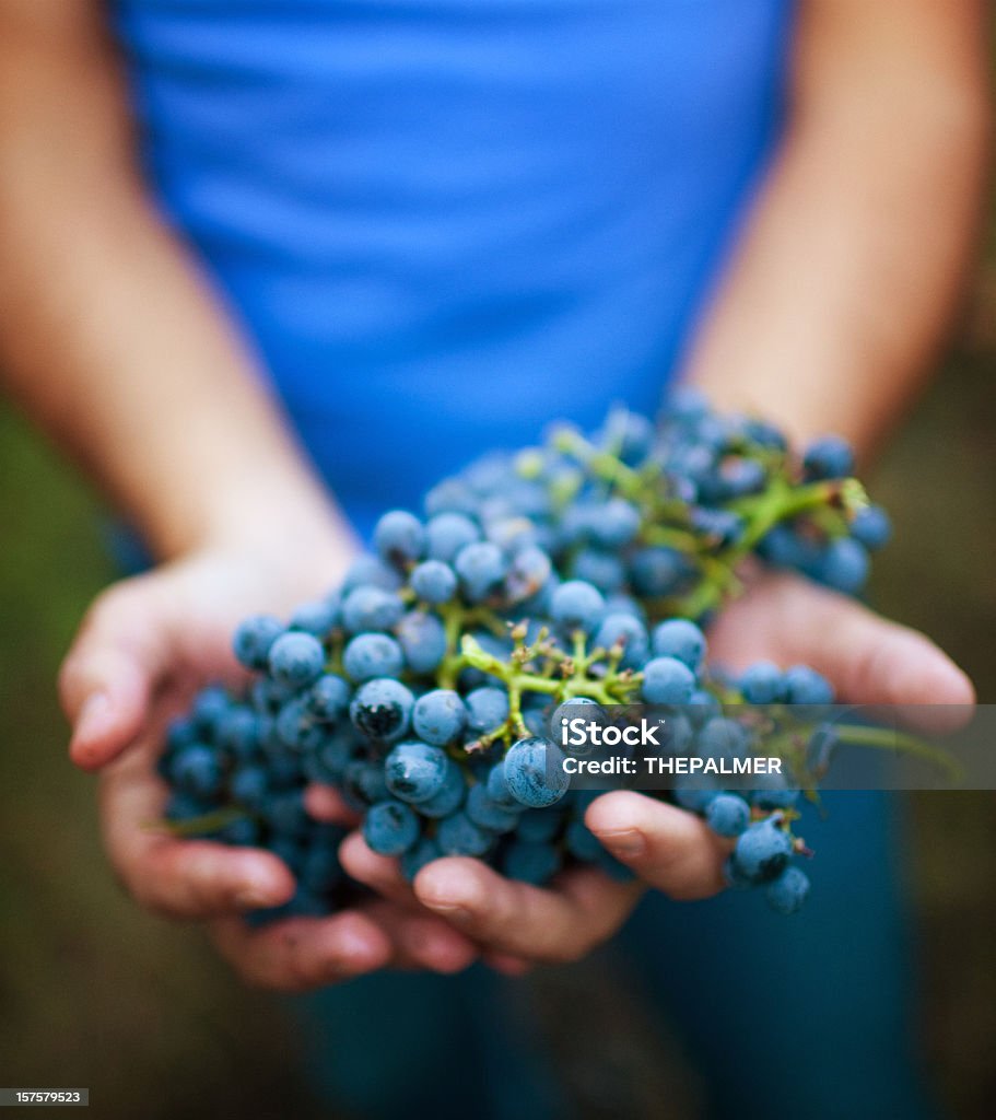
M 356 911 L 328 918 L 288 918 L 262 930 L 241 917 L 212 923 L 220 954 L 248 983 L 281 991 L 306 991 L 340 983 L 384 968 L 391 940 L 377 923 Z

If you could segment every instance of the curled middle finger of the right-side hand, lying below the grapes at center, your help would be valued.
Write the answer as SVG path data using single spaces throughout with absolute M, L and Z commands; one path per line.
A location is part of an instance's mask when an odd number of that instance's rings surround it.
M 414 886 L 424 906 L 489 951 L 541 961 L 582 958 L 616 932 L 640 889 L 592 869 L 569 871 L 555 889 L 541 889 L 466 858 L 430 864 Z

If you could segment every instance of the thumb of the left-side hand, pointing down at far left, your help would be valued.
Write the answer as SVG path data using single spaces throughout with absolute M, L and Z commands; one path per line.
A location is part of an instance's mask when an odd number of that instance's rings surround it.
M 116 757 L 144 722 L 169 659 L 152 588 L 144 578 L 104 591 L 87 612 L 59 671 L 72 727 L 69 757 L 97 769 Z

